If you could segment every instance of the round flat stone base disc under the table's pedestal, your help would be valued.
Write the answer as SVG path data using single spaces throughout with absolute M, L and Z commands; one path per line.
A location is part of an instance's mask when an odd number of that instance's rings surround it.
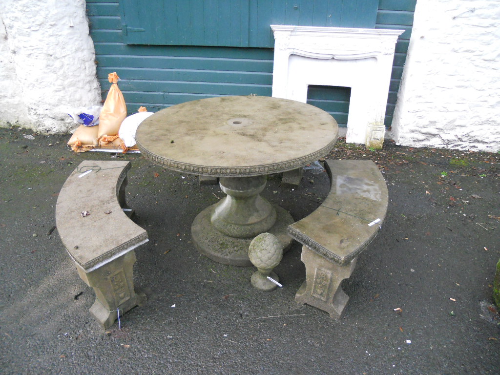
M 210 222 L 215 205 L 213 204 L 202 210 L 192 223 L 192 240 L 198 251 L 219 263 L 251 266 L 252 263 L 248 258 L 248 246 L 253 237 L 229 237 L 215 229 Z M 286 228 L 294 220 L 284 208 L 277 205 L 274 205 L 274 208 L 276 210 L 276 222 L 267 232 L 278 237 L 283 246 L 283 252 L 285 252 L 292 242 L 292 238 L 287 234 Z

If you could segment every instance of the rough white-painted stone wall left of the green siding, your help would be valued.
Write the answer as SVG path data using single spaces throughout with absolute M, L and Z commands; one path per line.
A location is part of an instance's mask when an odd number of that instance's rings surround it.
M 84 0 L 0 0 L 0 126 L 68 132 L 101 105 Z

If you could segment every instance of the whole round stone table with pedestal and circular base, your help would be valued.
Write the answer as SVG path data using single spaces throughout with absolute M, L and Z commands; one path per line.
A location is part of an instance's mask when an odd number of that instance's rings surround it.
M 193 242 L 210 259 L 252 265 L 248 245 L 263 232 L 286 249 L 290 214 L 259 193 L 266 175 L 325 156 L 337 123 L 315 106 L 268 96 L 222 96 L 162 109 L 137 128 L 137 146 L 149 160 L 180 172 L 220 177 L 227 195 L 191 226 Z M 174 218 L 172 218 L 174 219 Z

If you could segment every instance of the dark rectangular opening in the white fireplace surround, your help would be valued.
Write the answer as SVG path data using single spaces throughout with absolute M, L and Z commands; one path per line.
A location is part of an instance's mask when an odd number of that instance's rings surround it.
M 328 112 L 337 121 L 338 127 L 347 127 L 350 87 L 307 85 L 307 104 Z

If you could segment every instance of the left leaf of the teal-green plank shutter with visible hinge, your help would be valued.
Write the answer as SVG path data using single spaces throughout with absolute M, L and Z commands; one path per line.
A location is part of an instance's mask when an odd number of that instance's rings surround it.
M 249 0 L 121 0 L 126 44 L 248 46 Z

